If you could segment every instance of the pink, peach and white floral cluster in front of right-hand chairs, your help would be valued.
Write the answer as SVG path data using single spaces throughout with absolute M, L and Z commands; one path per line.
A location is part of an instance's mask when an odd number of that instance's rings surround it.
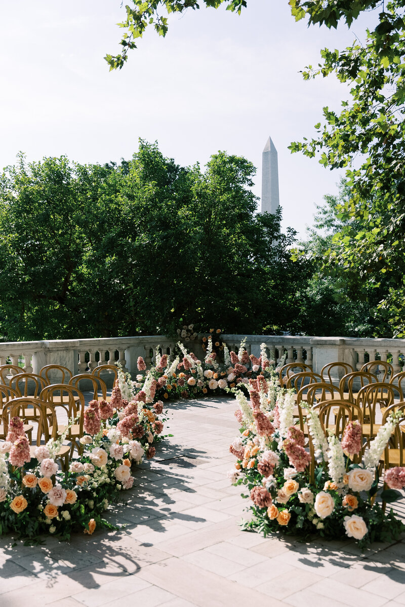
M 247 486 L 252 518 L 244 529 L 327 538 L 355 538 L 360 547 L 399 537 L 405 526 L 392 509 L 377 502 L 401 497 L 405 468 L 389 469 L 379 489 L 378 464 L 398 423 L 392 414 L 366 449 L 358 421 L 347 423 L 341 440 L 325 436 L 316 409 L 307 415 L 309 436 L 295 425 L 292 390 L 258 375 L 249 380 L 249 396 L 236 392 L 240 436 L 230 446 L 236 456 L 229 473 L 235 485 Z M 364 454 L 363 454 L 364 450 Z M 387 488 L 388 487 L 388 488 Z

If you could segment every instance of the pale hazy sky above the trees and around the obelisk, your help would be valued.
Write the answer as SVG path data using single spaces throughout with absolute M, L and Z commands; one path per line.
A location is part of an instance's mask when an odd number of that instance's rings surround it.
M 282 227 L 304 237 L 315 205 L 336 194 L 343 172 L 288 146 L 315 135 L 323 106 L 339 110 L 349 95 L 334 76 L 306 82 L 300 70 L 318 64 L 321 48 L 364 37 L 372 15 L 336 31 L 296 23 L 287 0 L 248 4 L 241 16 L 224 7 L 172 15 L 166 38 L 150 30 L 126 66 L 109 72 L 103 57 L 119 50 L 121 0 L 2 2 L 0 168 L 19 151 L 28 161 L 119 161 L 142 138 L 183 166 L 204 165 L 219 150 L 244 156 L 258 169 L 260 197 L 270 135 Z

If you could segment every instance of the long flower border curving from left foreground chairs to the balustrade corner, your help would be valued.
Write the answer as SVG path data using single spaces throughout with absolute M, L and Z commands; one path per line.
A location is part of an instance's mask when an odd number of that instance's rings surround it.
M 121 490 L 132 487 L 131 467 L 144 456 L 152 458 L 153 444 L 164 438 L 166 419 L 159 418 L 164 401 L 226 394 L 237 386 L 247 389 L 249 379 L 259 373 L 270 377 L 265 344 L 260 358 L 249 356 L 244 341 L 238 354 L 224 344 L 223 364 L 213 351 L 212 336 L 206 344 L 204 361 L 181 343 L 182 356 L 174 361 L 157 348 L 155 365 L 146 375 L 146 364 L 138 359 L 142 373 L 136 381 L 119 369 L 111 401 L 91 401 L 85 410 L 81 455 L 66 472 L 59 469 L 58 452 L 76 420 L 69 421 L 57 441 L 35 449 L 32 457 L 23 420 L 12 418 L 0 443 L 0 534 L 38 538 L 50 533 L 66 540 L 75 530 L 92 534 L 96 527 L 112 527 L 105 510 L 119 500 Z

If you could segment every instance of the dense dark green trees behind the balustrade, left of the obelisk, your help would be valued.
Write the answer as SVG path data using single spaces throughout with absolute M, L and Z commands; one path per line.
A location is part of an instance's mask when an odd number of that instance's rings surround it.
M 204 171 L 141 141 L 120 165 L 27 163 L 0 177 L 0 330 L 11 340 L 236 333 L 296 313 L 294 232 L 256 214 L 255 169 L 218 152 Z

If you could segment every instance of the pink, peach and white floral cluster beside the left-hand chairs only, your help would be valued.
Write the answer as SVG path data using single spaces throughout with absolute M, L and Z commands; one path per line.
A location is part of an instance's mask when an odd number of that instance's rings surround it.
M 153 443 L 162 438 L 164 405 L 154 399 L 154 390 L 147 377 L 136 392 L 119 370 L 111 401 L 91 401 L 85 410 L 81 454 L 64 472 L 58 452 L 76 420 L 57 441 L 36 447 L 32 457 L 22 420 L 10 419 L 0 443 L 0 534 L 50 533 L 65 540 L 78 529 L 91 535 L 96 527 L 111 527 L 105 510 L 132 487 L 132 466 L 152 458 Z

